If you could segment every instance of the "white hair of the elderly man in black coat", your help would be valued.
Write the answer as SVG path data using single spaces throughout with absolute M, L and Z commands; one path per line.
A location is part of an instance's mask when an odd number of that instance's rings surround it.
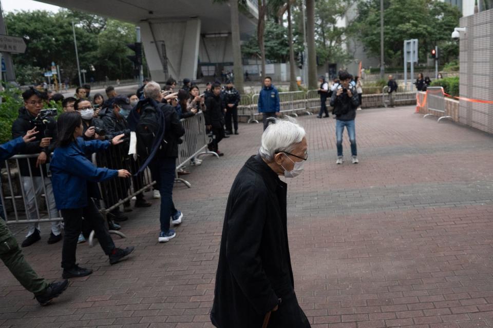
M 267 161 L 272 161 L 276 153 L 291 152 L 307 134 L 305 129 L 289 116 L 286 119 L 270 120 L 273 123 L 263 132 L 262 146 L 259 150 L 260 156 Z

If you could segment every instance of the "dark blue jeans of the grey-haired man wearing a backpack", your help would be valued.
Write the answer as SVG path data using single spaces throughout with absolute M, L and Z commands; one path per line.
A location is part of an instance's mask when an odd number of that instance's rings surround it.
M 150 166 L 151 172 L 156 179 L 156 187 L 161 194 L 161 212 L 159 221 L 161 223 L 161 231 L 169 231 L 169 219 L 172 214 L 176 213 L 173 203 L 173 186 L 175 184 L 175 157 L 155 158 Z

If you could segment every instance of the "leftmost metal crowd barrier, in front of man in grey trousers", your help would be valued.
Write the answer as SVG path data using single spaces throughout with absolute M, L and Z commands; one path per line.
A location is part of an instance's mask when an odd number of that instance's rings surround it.
M 47 191 L 44 183 L 45 177 L 49 178 L 50 176 L 46 176 L 43 173 L 43 170 L 40 170 L 41 176 L 33 176 L 33 168 L 31 167 L 30 159 L 35 159 L 37 156 L 39 156 L 39 154 L 15 155 L 4 161 L 3 168 L 5 168 L 5 170 L 2 170 L 3 181 L 0 183 L 0 198 L 3 204 L 1 216 L 5 218 L 7 224 L 63 221 L 59 211 L 56 211 L 58 214 L 56 216 L 53 216 L 50 213 L 49 200 L 48 197 L 46 197 Z M 22 162 L 27 163 L 29 175 L 23 176 L 21 174 L 20 163 Z M 42 179 L 42 181 L 40 181 L 40 179 Z M 6 180 L 5 183 L 4 180 Z M 24 182 L 33 189 L 26 190 Z M 42 186 L 42 190 L 36 195 L 35 187 L 37 186 L 39 188 L 40 185 Z M 28 192 L 31 195 L 36 195 L 32 198 L 33 204 L 31 204 L 31 208 L 33 205 L 35 207 L 35 218 L 31 217 L 31 219 L 29 219 L 28 215 L 30 206 L 27 197 Z M 51 191 L 49 195 L 50 197 L 53 197 Z

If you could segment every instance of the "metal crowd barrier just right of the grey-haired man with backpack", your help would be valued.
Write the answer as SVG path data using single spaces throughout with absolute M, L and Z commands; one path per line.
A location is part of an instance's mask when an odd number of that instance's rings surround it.
M 207 146 L 210 144 L 210 137 L 207 136 L 205 130 L 205 118 L 202 111 L 198 112 L 194 116 L 188 118 L 182 118 L 181 122 L 185 128 L 185 135 L 182 137 L 183 142 L 178 145 L 178 159 L 176 162 L 176 170 L 183 168 L 192 158 L 199 158 L 203 155 L 214 155 L 219 158 L 219 155 L 213 151 L 208 150 Z M 182 182 L 188 188 L 192 185 L 190 182 L 183 178 L 179 178 L 178 174 L 175 178 L 176 182 Z

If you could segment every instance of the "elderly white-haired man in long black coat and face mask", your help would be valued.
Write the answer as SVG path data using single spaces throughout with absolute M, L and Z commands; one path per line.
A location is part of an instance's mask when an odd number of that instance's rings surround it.
M 259 153 L 240 170 L 227 200 L 211 312 L 219 328 L 306 328 L 294 292 L 287 184 L 307 160 L 305 129 L 271 118 Z

